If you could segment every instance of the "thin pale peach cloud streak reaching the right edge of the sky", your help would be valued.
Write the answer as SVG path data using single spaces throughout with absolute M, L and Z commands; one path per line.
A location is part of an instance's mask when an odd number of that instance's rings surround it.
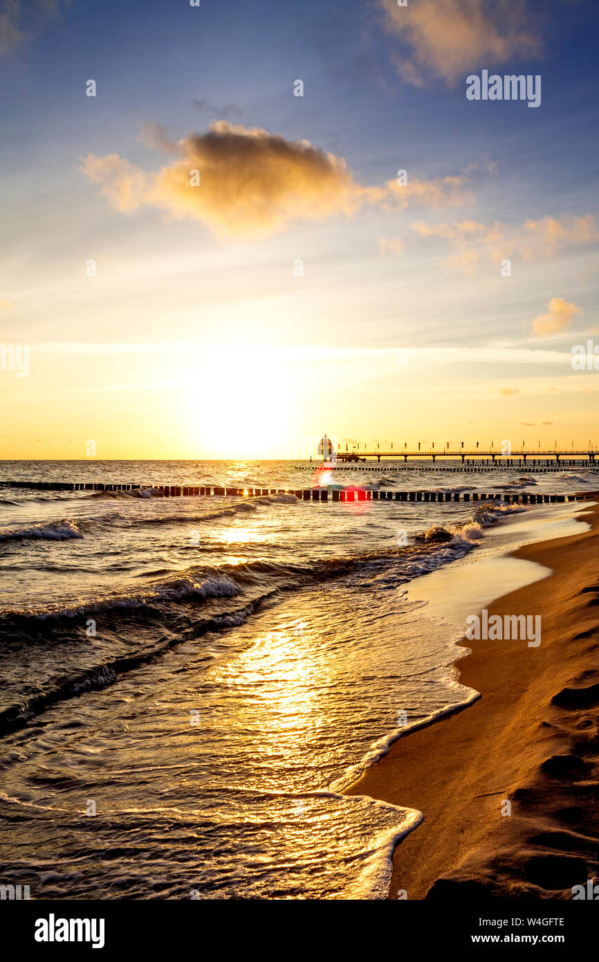
M 521 257 L 530 261 L 599 240 L 591 214 L 546 216 L 540 220 L 527 220 L 515 228 L 497 220 L 492 224 L 476 220 L 453 223 L 415 221 L 412 230 L 420 237 L 451 243 L 458 254 L 448 259 L 447 266 L 462 267 L 470 272 L 483 259 L 497 263 L 505 258 Z

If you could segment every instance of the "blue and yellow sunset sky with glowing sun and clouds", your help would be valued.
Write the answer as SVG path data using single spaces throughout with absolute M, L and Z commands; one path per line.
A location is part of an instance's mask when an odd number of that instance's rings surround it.
M 0 0 L 0 458 L 598 447 L 598 28 Z

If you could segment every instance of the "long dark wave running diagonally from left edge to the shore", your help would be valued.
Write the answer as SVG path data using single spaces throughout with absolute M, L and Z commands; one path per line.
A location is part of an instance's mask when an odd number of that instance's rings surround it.
M 172 646 L 241 624 L 283 592 L 343 576 L 370 590 L 372 579 L 376 584 L 383 579 L 400 585 L 436 570 L 471 550 L 489 524 L 523 510 L 487 503 L 462 523 L 434 525 L 417 536 L 415 544 L 303 564 L 256 560 L 161 570 L 158 581 L 128 592 L 77 599 L 62 607 L 5 610 L 0 614 L 2 647 L 20 651 L 23 646 L 39 646 L 43 661 L 44 648 L 52 646 L 56 669 L 54 676 L 44 675 L 43 687 L 33 693 L 17 680 L 14 688 L 21 695 L 13 695 L 15 702 L 0 711 L 0 732 L 20 727 L 57 700 L 105 688 L 119 674 L 160 657 Z M 87 637 L 90 619 L 97 620 L 99 644 Z M 73 660 L 77 668 L 66 672 L 62 666 Z

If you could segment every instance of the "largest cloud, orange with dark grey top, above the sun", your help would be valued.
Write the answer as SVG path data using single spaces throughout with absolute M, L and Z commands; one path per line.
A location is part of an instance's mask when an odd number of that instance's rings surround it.
M 80 169 L 116 210 L 149 205 L 176 217 L 200 220 L 229 236 L 264 237 L 296 219 L 355 214 L 364 205 L 387 211 L 409 204 L 462 204 L 465 175 L 415 178 L 405 187 L 362 187 L 342 158 L 309 140 L 287 140 L 259 128 L 213 122 L 204 134 L 173 141 L 156 123 L 143 125 L 143 142 L 171 155 L 158 172 L 146 172 L 118 154 L 81 159 Z M 199 173 L 195 177 L 194 171 Z M 199 180 L 199 184 L 197 181 Z

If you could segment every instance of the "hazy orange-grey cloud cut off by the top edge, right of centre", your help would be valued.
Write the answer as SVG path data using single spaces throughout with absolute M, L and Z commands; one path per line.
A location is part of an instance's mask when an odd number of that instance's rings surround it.
M 411 48 L 394 57 L 409 84 L 425 87 L 433 78 L 455 86 L 481 66 L 514 57 L 536 57 L 542 50 L 526 0 L 380 0 L 387 29 Z

